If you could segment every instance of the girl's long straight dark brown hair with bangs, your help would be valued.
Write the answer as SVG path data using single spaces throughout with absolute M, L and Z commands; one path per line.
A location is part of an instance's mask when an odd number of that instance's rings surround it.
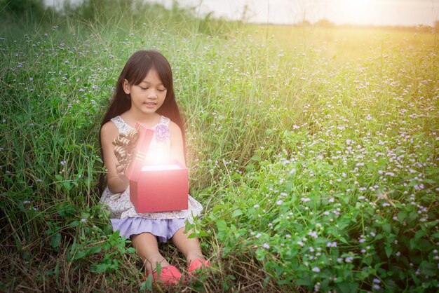
M 131 107 L 131 97 L 123 91 L 123 80 L 126 79 L 130 85 L 137 86 L 143 81 L 151 69 L 156 70 L 161 82 L 163 83 L 163 86 L 166 88 L 165 101 L 156 111 L 156 113 L 170 118 L 171 121 L 180 127 L 183 136 L 184 155 L 186 156 L 186 135 L 184 131 L 184 121 L 182 119 L 182 115 L 180 114 L 180 110 L 178 109 L 177 101 L 175 100 L 173 71 L 170 68 L 168 60 L 166 60 L 166 57 L 155 50 L 140 50 L 135 52 L 128 59 L 116 83 L 116 89 L 114 90 L 112 102 L 110 103 L 107 112 L 104 114 L 100 128 L 102 129 L 102 125 L 110 121 L 112 118 L 128 111 Z M 100 132 L 99 143 L 103 158 Z M 102 173 L 98 186 L 100 193 L 102 193 L 103 188 L 104 174 Z

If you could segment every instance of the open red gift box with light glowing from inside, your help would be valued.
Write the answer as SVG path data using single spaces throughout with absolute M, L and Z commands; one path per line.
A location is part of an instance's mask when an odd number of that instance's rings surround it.
M 177 160 L 145 161 L 154 130 L 137 123 L 139 136 L 135 157 L 126 170 L 130 181 L 130 200 L 136 212 L 169 212 L 187 210 L 189 174 Z

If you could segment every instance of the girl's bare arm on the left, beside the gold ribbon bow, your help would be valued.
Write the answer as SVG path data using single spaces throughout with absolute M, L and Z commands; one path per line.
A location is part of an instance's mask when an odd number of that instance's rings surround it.
M 119 162 L 114 155 L 113 141 L 119 135 L 119 130 L 112 121 L 105 123 L 100 130 L 102 143 L 102 153 L 104 154 L 104 164 L 107 169 L 107 184 L 109 191 L 120 193 L 127 189 L 129 181 L 123 174 L 123 168 L 119 167 Z

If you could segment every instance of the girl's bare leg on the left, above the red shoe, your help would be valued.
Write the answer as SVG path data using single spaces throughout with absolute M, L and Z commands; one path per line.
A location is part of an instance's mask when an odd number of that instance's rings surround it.
M 158 251 L 156 236 L 151 233 L 141 233 L 131 236 L 131 241 L 147 272 L 154 271 L 158 263 L 162 268 L 169 266 L 168 261 Z

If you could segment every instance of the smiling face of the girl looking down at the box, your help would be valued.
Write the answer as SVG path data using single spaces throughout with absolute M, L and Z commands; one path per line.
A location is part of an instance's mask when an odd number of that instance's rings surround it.
M 130 85 L 124 79 L 123 91 L 131 96 L 131 108 L 135 107 L 144 114 L 151 114 L 165 101 L 167 89 L 163 86 L 156 70 L 151 69 L 138 85 Z

